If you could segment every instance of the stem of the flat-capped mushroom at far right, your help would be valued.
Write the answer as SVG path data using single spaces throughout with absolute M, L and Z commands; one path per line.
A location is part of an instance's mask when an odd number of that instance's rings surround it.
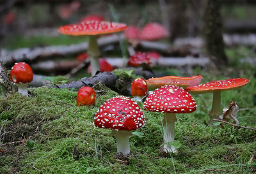
M 212 97 L 212 108 L 209 113 L 209 116 L 211 118 L 211 120 L 209 121 L 210 125 L 216 122 L 212 119 L 218 119 L 219 115 L 221 114 L 220 104 L 221 104 L 221 91 L 214 91 L 213 97 Z

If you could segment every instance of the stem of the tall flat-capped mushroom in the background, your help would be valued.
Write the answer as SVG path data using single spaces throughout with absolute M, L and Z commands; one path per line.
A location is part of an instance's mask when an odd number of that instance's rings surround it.
M 97 71 L 100 71 L 100 50 L 97 43 L 97 36 L 89 36 L 88 54 L 90 55 L 92 75 L 95 75 Z

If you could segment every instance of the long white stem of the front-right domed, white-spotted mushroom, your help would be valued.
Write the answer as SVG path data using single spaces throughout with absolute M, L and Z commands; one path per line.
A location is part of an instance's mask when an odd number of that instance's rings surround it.
M 163 128 L 164 128 L 164 152 L 175 153 L 175 147 L 168 145 L 174 141 L 174 123 L 177 121 L 175 113 L 164 113 Z

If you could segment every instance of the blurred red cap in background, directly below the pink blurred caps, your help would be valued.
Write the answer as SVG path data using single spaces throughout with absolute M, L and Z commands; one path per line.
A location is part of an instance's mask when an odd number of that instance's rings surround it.
M 147 57 L 147 54 L 142 52 L 136 52 L 136 54 L 131 55 L 128 60 L 129 66 L 140 66 L 140 64 L 151 64 L 149 57 Z

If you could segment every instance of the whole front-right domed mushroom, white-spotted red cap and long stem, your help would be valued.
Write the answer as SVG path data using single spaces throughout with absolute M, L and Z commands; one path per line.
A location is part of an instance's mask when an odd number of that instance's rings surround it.
M 148 96 L 144 103 L 145 110 L 164 113 L 164 151 L 177 152 L 175 147 L 168 145 L 174 141 L 175 113 L 191 113 L 196 110 L 195 99 L 181 87 L 165 85 L 159 87 Z

